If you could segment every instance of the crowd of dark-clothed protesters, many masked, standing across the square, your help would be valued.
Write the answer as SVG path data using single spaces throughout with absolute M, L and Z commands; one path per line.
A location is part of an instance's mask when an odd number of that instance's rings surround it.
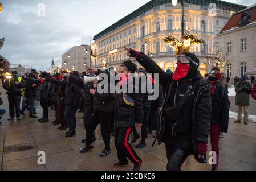
M 225 77 L 217 67 L 212 68 L 203 78 L 198 71 L 199 59 L 196 55 L 184 52 L 177 56 L 177 68 L 172 72 L 169 68 L 163 71 L 149 56 L 143 52 L 127 49 L 127 56 L 135 57 L 143 68 L 138 69 L 131 60 L 124 61 L 114 76 L 119 80 L 109 82 L 108 92 L 100 93 L 97 88 L 101 79 L 87 82 L 84 78 L 96 77 L 104 74 L 111 76 L 110 69 L 105 71 L 87 67 L 81 75 L 77 71 L 61 71 L 50 75 L 47 72 L 37 72 L 31 69 L 30 73 L 19 76 L 13 71 L 12 78 L 6 80 L 3 88 L 6 90 L 9 101 L 9 121 L 21 120 L 29 110 L 30 118 L 38 118 L 35 102 L 39 101 L 43 110 L 42 118 L 38 122 L 49 122 L 49 107 L 55 109 L 53 125 L 59 125 L 59 130 L 67 130 L 65 137 L 76 135 L 76 113 L 83 111 L 83 123 L 86 138 L 82 139 L 85 146 L 80 153 L 93 151 L 95 129 L 100 124 L 101 135 L 104 141 L 101 157 L 111 153 L 111 133 L 115 136 L 115 147 L 119 162 L 116 167 L 125 166 L 128 159 L 134 164 L 133 170 L 139 171 L 143 160 L 137 155 L 135 148 L 147 145 L 148 134 L 153 134 L 157 143 L 165 143 L 168 164 L 166 169 L 177 171 L 181 169 L 189 155 L 194 155 L 199 163 L 206 163 L 208 138 L 212 150 L 217 154 L 217 163 L 212 171 L 218 170 L 219 140 L 223 133 L 227 133 L 229 126 L 228 97 L 230 77 Z M 153 77 L 159 75 L 159 84 Z M 133 76 L 131 76 L 133 74 Z M 121 75 L 124 75 L 121 76 Z M 129 85 L 134 82 L 134 75 L 145 76 L 145 82 L 139 87 L 158 87 L 158 97 L 149 100 L 149 93 L 128 92 Z M 101 81 L 99 81 L 101 80 Z M 251 84 L 246 76 L 235 77 L 235 104 L 238 106 L 238 118 L 235 123 L 243 121 L 247 125 L 250 94 L 256 99 L 255 78 L 251 77 Z M 111 93 L 112 87 L 118 86 L 123 92 Z M 139 89 L 132 84 L 133 90 Z M 21 98 L 23 96 L 23 104 Z M 0 105 L 2 98 L 0 95 Z M 0 109 L 0 119 L 5 113 Z M 140 127 L 140 133 L 136 128 Z M 153 133 L 154 131 L 154 133 Z M 131 135 L 131 144 L 129 137 Z M 141 138 L 141 139 L 140 139 Z M 137 140 L 140 139 L 138 143 Z M 155 141 L 156 142 L 156 141 Z M 154 142 L 154 143 L 155 143 Z

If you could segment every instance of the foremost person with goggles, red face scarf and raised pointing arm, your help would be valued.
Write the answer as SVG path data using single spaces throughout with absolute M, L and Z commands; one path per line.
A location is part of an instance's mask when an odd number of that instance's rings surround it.
M 159 84 L 165 89 L 157 138 L 159 144 L 165 143 L 166 169 L 180 170 L 190 154 L 194 154 L 198 162 L 206 163 L 212 113 L 211 84 L 200 75 L 196 55 L 181 53 L 172 75 L 163 71 L 143 52 L 124 48 L 127 49 L 127 56 L 135 57 L 149 73 L 158 73 Z

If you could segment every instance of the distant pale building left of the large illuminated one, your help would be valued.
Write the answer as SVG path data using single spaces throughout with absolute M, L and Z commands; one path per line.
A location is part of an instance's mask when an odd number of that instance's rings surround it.
M 90 46 L 74 46 L 62 55 L 62 69 L 76 70 L 82 73 L 85 70 L 85 65 L 90 65 L 90 55 Z

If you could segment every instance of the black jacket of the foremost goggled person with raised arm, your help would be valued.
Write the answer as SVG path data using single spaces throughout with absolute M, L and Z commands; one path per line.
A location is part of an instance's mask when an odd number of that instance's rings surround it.
M 182 81 L 172 80 L 172 75 L 164 72 L 152 59 L 142 53 L 139 63 L 149 73 L 159 73 L 159 83 L 166 90 L 163 108 L 176 105 L 184 96 L 189 85 L 192 91 L 186 98 L 177 121 L 168 121 L 164 109 L 160 114 L 159 143 L 181 146 L 193 150 L 197 155 L 197 142 L 208 143 L 211 116 L 210 83 L 202 79 L 200 73 Z M 173 87 L 170 85 L 173 82 Z M 185 142 L 181 142 L 186 141 Z M 192 147 L 193 146 L 193 147 Z

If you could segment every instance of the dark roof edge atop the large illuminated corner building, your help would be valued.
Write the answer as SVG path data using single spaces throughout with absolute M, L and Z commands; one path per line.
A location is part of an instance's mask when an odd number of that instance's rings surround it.
M 180 2 L 180 0 L 178 0 Z M 106 28 L 105 30 L 101 31 L 99 34 L 94 36 L 94 40 L 99 39 L 101 36 L 108 34 L 109 32 L 115 30 L 116 28 L 122 26 L 123 24 L 131 21 L 132 19 L 136 18 L 137 16 L 140 16 L 141 14 L 146 13 L 147 11 L 160 6 L 169 4 L 170 0 L 152 0 L 146 3 L 145 5 L 141 6 L 139 9 L 133 11 L 131 14 L 125 16 L 124 18 L 120 19 L 118 22 L 112 24 L 110 27 Z M 238 12 L 242 9 L 245 9 L 247 6 L 243 5 L 237 5 L 235 3 L 230 3 L 226 1 L 220 1 L 220 0 L 184 0 L 184 3 L 190 3 L 194 5 L 201 5 L 201 6 L 209 6 L 209 3 L 216 3 L 217 9 L 223 9 L 223 10 L 233 10 L 235 12 Z

